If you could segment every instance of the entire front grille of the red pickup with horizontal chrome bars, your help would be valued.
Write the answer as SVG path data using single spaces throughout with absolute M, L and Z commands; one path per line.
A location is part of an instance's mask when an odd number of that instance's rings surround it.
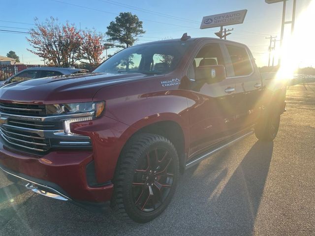
M 32 115 L 33 113 L 36 114 Z M 44 105 L 0 103 L 0 137 L 3 145 L 39 156 L 51 149 L 92 148 L 89 136 L 65 134 L 63 120 L 93 116 L 93 113 L 57 116 L 43 116 L 44 114 Z

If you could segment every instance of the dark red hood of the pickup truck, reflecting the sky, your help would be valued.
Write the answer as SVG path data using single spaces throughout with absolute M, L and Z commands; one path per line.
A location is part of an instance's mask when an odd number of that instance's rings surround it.
M 147 77 L 140 73 L 87 73 L 33 79 L 0 88 L 0 101 L 55 104 L 92 101 L 106 86 Z

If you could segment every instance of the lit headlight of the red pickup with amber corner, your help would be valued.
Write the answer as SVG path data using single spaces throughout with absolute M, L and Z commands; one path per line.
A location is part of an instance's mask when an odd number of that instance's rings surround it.
M 65 134 L 72 134 L 70 130 L 70 124 L 73 122 L 82 122 L 92 120 L 94 118 L 100 117 L 105 109 L 105 102 L 80 102 L 80 103 L 67 103 L 67 104 L 52 104 L 46 105 L 47 115 L 71 115 L 94 112 L 94 115 L 75 117 L 65 119 L 63 121 L 63 131 Z

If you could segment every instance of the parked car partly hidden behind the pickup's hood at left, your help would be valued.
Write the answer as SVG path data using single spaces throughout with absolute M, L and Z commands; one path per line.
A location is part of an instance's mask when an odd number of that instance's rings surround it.
M 44 77 L 52 77 L 59 75 L 71 75 L 78 73 L 86 73 L 88 70 L 75 68 L 61 68 L 61 67 L 31 67 L 18 72 L 10 78 L 0 81 L 0 87 L 14 82 L 21 82 L 24 80 L 39 79 Z

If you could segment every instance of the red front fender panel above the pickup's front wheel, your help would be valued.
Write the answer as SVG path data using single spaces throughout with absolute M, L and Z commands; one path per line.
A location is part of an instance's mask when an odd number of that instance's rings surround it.
M 135 132 L 160 121 L 174 121 L 183 130 L 185 147 L 189 147 L 188 104 L 180 93 L 174 90 L 109 100 L 105 115 L 127 124 Z

